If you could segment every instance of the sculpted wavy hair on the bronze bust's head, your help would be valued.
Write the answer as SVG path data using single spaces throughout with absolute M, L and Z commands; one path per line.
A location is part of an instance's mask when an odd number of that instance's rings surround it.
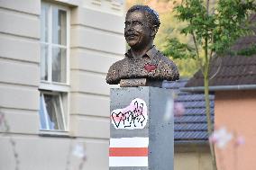
M 133 13 L 134 11 L 141 11 L 142 13 L 145 13 L 146 18 L 148 22 L 151 24 L 151 29 L 153 26 L 156 26 L 157 29 L 160 27 L 160 19 L 159 19 L 159 14 L 151 9 L 150 6 L 148 5 L 133 5 L 127 13 Z

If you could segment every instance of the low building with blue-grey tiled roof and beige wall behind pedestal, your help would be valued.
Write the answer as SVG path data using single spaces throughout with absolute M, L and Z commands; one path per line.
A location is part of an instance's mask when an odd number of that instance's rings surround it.
M 192 94 L 181 89 L 187 79 L 164 82 L 163 86 L 174 93 L 175 108 L 183 105 L 183 113 L 174 109 L 174 169 L 212 170 L 211 152 L 208 145 L 206 103 L 204 94 Z M 215 117 L 215 95 L 210 95 L 212 122 Z

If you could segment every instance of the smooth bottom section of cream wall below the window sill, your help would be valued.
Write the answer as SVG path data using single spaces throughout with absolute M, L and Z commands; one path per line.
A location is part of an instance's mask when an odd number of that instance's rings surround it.
M 108 144 L 104 140 L 49 138 L 37 135 L 15 134 L 16 150 L 20 170 L 65 170 L 69 158 L 69 169 L 78 169 L 81 159 L 69 153 L 70 145 L 83 142 L 87 147 L 87 162 L 84 169 L 108 169 Z M 14 154 L 9 137 L 1 137 L 0 169 L 14 170 Z

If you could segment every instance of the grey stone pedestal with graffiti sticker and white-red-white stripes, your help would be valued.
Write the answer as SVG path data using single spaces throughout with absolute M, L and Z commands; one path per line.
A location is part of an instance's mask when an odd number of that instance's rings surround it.
M 172 110 L 168 89 L 111 89 L 109 169 L 173 170 Z

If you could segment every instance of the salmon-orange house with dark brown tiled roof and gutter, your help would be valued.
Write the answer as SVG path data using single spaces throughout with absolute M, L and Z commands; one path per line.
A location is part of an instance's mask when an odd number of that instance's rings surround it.
M 251 21 L 256 22 L 256 15 Z M 215 58 L 210 67 L 210 76 L 215 74 L 209 81 L 209 90 L 215 94 L 215 130 L 226 130 L 224 135 L 232 137 L 223 148 L 215 147 L 218 168 L 253 170 L 256 167 L 253 157 L 256 151 L 255 43 L 255 35 L 240 38 L 232 47 L 236 55 Z M 202 74 L 197 72 L 187 82 L 186 90 L 203 93 L 203 82 Z

